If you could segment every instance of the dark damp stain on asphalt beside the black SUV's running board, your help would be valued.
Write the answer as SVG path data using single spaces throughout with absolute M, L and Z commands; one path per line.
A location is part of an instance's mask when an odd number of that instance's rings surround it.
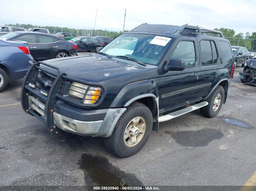
M 217 129 L 200 129 L 197 131 L 165 131 L 175 141 L 183 146 L 204 147 L 214 139 L 221 139 L 224 135 Z

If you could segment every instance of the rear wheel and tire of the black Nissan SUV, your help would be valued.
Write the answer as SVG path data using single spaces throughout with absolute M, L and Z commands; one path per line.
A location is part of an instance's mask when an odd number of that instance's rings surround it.
M 200 112 L 202 115 L 206 117 L 215 117 L 219 111 L 221 110 L 223 101 L 224 101 L 224 88 L 220 85 L 215 88 L 215 90 L 211 93 L 211 95 L 206 99 L 206 101 L 209 103 L 207 106 L 201 107 Z M 218 105 L 214 104 L 214 100 L 217 98 L 217 95 L 220 95 Z M 214 108 L 215 105 L 215 108 Z M 218 106 L 218 107 L 217 107 Z

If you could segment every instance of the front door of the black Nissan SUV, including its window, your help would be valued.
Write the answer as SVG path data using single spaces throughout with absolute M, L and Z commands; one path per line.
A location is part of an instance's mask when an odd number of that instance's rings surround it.
M 160 75 L 159 112 L 199 100 L 200 66 L 198 46 L 194 38 L 177 43 L 170 59 L 183 59 L 185 70 Z

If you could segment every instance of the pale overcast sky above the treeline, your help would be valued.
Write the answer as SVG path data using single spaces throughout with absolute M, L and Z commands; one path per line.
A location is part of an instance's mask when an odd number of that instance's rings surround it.
M 3 1 L 0 22 L 40 26 L 125 30 L 142 23 L 170 25 L 198 25 L 200 27 L 230 28 L 236 33 L 256 32 L 255 0 L 212 0 L 182 2 L 172 0 L 105 0 L 63 1 L 34 0 Z M 8 6 L 7 6 L 8 5 Z

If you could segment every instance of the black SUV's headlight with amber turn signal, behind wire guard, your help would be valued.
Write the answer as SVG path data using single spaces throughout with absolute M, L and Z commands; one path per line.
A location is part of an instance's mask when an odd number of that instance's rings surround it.
M 102 88 L 100 87 L 92 87 L 85 84 L 80 84 L 78 82 L 68 82 L 64 89 L 68 89 L 68 93 L 65 94 L 65 90 L 63 96 L 72 96 L 73 100 L 76 100 L 80 103 L 85 104 L 95 104 L 101 97 Z M 71 99 L 71 97 L 70 97 Z

